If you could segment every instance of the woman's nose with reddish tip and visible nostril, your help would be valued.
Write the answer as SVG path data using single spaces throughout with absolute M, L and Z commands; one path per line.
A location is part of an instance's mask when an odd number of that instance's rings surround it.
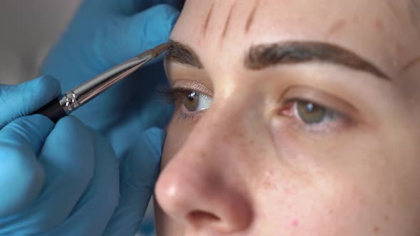
M 222 112 L 226 118 L 226 112 Z M 164 166 L 155 188 L 159 206 L 187 230 L 210 235 L 243 232 L 253 220 L 241 139 L 229 119 L 201 118 L 187 141 Z M 224 120 L 223 123 L 216 120 Z M 169 134 L 170 135 L 170 134 Z M 170 139 L 170 137 L 169 137 Z

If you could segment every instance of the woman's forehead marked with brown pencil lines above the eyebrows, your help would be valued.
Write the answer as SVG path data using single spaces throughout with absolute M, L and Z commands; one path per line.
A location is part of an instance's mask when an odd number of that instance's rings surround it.
M 221 62 L 220 58 L 232 62 L 259 43 L 308 40 L 341 45 L 397 70 L 419 53 L 411 49 L 418 45 L 413 43 L 418 35 L 410 3 L 187 0 L 172 37 L 193 48 L 204 63 Z

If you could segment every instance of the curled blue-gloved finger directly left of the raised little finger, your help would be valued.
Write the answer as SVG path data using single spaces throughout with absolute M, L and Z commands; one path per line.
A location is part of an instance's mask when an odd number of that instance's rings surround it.
M 93 132 L 95 175 L 88 190 L 59 227 L 46 235 L 103 235 L 120 195 L 118 162 L 110 144 Z M 100 210 L 100 214 L 98 214 Z

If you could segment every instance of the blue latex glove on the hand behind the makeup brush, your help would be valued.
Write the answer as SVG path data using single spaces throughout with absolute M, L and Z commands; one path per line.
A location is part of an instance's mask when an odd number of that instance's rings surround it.
M 46 59 L 42 74 L 58 78 L 67 91 L 167 42 L 183 2 L 85 0 Z M 155 92 L 165 83 L 162 61 L 149 63 L 73 115 L 106 136 L 121 158 L 144 129 L 167 124 L 172 109 Z

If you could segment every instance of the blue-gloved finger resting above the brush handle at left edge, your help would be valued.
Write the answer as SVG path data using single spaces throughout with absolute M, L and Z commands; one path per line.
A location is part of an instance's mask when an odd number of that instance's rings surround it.
M 38 77 L 20 85 L 0 85 L 0 129 L 12 120 L 30 114 L 61 92 L 58 80 Z

